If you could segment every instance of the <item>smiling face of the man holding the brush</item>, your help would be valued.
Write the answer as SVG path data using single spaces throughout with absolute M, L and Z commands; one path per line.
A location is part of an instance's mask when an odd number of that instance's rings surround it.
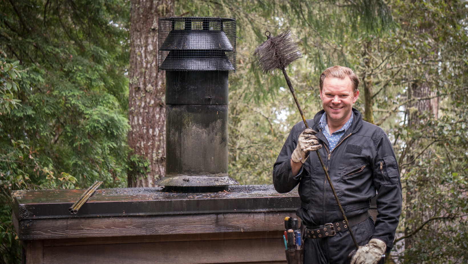
M 350 77 L 325 78 L 320 98 L 327 113 L 327 122 L 333 126 L 343 126 L 351 117 L 351 107 L 358 100 L 358 96 L 359 91 L 353 92 Z

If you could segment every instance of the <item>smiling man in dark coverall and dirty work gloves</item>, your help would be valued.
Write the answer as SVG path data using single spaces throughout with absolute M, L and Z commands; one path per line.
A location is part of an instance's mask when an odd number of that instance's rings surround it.
M 350 68 L 326 69 L 320 75 L 323 110 L 307 120 L 310 128 L 303 122 L 292 128 L 273 168 L 278 192 L 289 192 L 299 183 L 302 202 L 296 214 L 307 226 L 305 264 L 347 264 L 356 249 L 316 150 L 360 246 L 351 264 L 383 263 L 382 255 L 393 247 L 402 206 L 400 173 L 388 136 L 352 108 L 358 85 Z M 379 214 L 374 224 L 367 210 L 376 190 Z

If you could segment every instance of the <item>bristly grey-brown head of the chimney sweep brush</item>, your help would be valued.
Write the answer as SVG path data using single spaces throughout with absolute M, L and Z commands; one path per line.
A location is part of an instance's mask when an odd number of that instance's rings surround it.
M 275 69 L 283 70 L 294 60 L 302 58 L 299 46 L 292 41 L 289 30 L 258 45 L 254 56 L 264 74 L 272 74 Z

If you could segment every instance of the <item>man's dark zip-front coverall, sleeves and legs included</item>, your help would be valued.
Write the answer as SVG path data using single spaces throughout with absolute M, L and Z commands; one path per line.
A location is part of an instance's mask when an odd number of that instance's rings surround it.
M 395 153 L 387 134 L 371 123 L 362 120 L 361 113 L 352 109 L 351 126 L 340 138 L 335 149 L 329 152 L 329 144 L 319 121 L 324 110 L 307 120 L 310 128 L 318 132 L 322 144 L 319 150 L 336 194 L 348 219 L 365 213 L 370 200 L 377 195 L 377 221 L 372 218 L 352 226 L 351 230 L 359 246 L 372 238 L 387 244 L 387 253 L 393 247 L 395 230 L 402 211 L 402 186 Z M 292 175 L 291 155 L 297 146 L 305 125 L 299 122 L 292 128 L 273 167 L 273 184 L 280 193 L 289 192 L 299 183 L 301 207 L 296 214 L 306 226 L 322 226 L 343 220 L 335 197 L 316 153 L 311 152 L 298 175 Z M 348 254 L 356 249 L 348 231 L 335 236 L 306 239 L 305 264 L 347 264 Z

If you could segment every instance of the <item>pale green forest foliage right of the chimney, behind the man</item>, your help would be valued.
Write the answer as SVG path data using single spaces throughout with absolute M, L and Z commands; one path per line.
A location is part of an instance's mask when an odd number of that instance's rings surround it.
M 389 9 L 391 7 L 391 9 Z M 300 116 L 284 80 L 252 58 L 265 30 L 291 30 L 304 59 L 288 68 L 306 118 L 321 109 L 318 76 L 343 65 L 372 91 L 373 118 L 392 143 L 403 213 L 391 257 L 467 262 L 468 6 L 459 0 L 181 1 L 176 14 L 234 15 L 238 71 L 230 76 L 229 173 L 271 183 L 272 164 Z M 391 14 L 390 14 L 391 12 Z M 355 107 L 365 112 L 364 91 Z

